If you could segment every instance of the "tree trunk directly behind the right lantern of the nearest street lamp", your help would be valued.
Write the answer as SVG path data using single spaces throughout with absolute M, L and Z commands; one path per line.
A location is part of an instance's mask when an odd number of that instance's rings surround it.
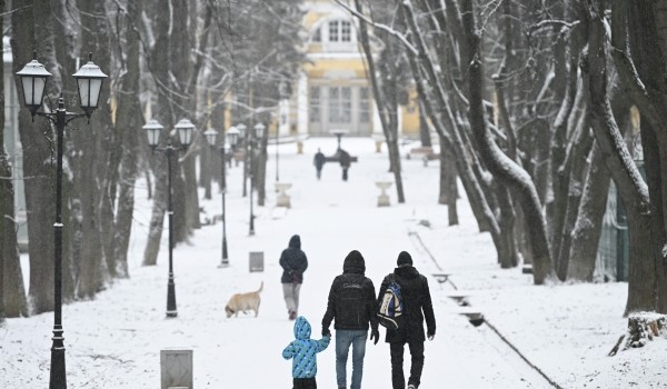
M 103 2 L 79 0 L 82 27 L 82 56 L 91 52 L 94 62 L 103 70 L 111 70 L 109 32 Z M 92 32 L 94 31 L 94 33 Z M 104 285 L 113 266 L 113 208 L 118 161 L 111 150 L 120 150 L 111 121 L 110 82 L 102 83 L 99 106 L 84 131 L 71 133 L 74 140 L 78 174 L 72 181 L 81 201 L 81 257 L 77 296 L 91 299 Z M 82 124 L 83 126 L 83 124 Z M 109 265 L 111 262 L 111 268 Z

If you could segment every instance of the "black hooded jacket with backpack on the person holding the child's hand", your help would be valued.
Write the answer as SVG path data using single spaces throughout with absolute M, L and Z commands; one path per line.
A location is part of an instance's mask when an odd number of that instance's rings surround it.
M 342 275 L 331 283 L 322 328 L 328 329 L 335 320 L 337 330 L 378 329 L 375 286 L 364 276 L 366 263 L 357 250 L 350 251 L 342 262 Z

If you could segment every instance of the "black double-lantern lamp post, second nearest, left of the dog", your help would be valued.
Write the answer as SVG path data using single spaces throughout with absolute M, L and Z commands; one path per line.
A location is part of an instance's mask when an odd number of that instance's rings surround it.
M 169 218 L 169 281 L 167 281 L 167 317 L 176 318 L 178 310 L 176 309 L 176 283 L 173 282 L 173 210 L 171 209 L 171 156 L 180 150 L 186 150 L 192 141 L 192 131 L 195 124 L 188 119 L 181 119 L 175 127 L 178 132 L 180 146 L 171 144 L 171 137 L 167 138 L 167 146 L 159 148 L 160 133 L 165 129 L 157 120 L 151 119 L 142 127 L 148 136 L 148 144 L 153 152 L 156 150 L 165 152 L 167 156 L 167 215 Z

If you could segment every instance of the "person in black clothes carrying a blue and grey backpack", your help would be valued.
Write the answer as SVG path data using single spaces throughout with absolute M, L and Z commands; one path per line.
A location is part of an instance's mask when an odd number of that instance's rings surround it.
M 421 370 L 424 369 L 424 320 L 426 319 L 427 336 L 432 340 L 436 336 L 436 317 L 430 298 L 428 281 L 412 267 L 412 257 L 407 251 L 398 255 L 398 267 L 394 273 L 388 275 L 382 280 L 378 295 L 379 301 L 387 290 L 387 287 L 395 279 L 400 286 L 400 293 L 404 301 L 405 325 L 397 329 L 387 329 L 385 341 L 389 343 L 391 351 L 391 383 L 394 389 L 404 389 L 406 379 L 404 376 L 402 361 L 406 343 L 410 349 L 411 366 L 410 378 L 408 379 L 408 389 L 419 387 L 421 380 Z

